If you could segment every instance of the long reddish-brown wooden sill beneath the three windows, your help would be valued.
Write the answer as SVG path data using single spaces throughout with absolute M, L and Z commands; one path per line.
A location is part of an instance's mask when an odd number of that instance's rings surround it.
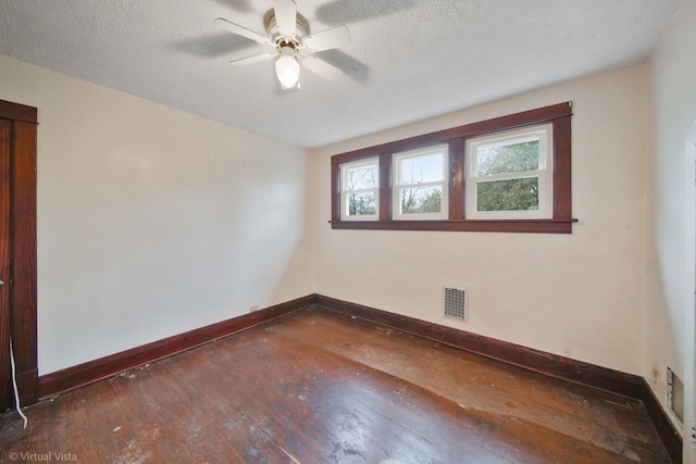
M 330 221 L 332 229 L 571 234 L 577 220 Z

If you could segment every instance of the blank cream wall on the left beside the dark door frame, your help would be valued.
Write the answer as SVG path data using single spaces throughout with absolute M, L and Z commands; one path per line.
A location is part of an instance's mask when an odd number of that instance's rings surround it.
M 297 148 L 0 57 L 37 106 L 39 374 L 303 297 Z

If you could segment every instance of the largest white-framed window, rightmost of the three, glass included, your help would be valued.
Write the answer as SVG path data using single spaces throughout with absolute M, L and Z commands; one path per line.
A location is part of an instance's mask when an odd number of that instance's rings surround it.
M 467 217 L 551 218 L 552 126 L 467 140 Z

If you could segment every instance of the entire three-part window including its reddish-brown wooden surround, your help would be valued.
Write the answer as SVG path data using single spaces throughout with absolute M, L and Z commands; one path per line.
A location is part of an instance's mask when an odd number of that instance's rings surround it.
M 332 156 L 332 227 L 570 234 L 571 104 Z

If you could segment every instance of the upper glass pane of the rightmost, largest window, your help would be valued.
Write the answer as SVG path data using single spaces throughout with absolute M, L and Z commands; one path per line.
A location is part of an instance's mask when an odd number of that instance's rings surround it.
M 477 176 L 523 173 L 538 168 L 538 139 L 520 143 L 481 146 L 476 150 Z

